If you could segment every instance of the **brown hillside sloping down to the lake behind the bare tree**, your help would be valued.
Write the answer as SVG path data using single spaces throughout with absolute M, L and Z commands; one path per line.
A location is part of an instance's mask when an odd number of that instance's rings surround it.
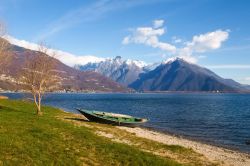
M 0 90 L 18 91 L 22 90 L 19 85 L 20 70 L 23 68 L 27 56 L 32 55 L 35 51 L 15 45 L 12 45 L 11 50 L 11 63 L 8 65 L 7 70 L 0 73 Z M 97 72 L 76 70 L 57 59 L 51 58 L 51 60 L 55 61 L 55 70 L 59 73 L 60 90 L 88 92 L 131 91 Z

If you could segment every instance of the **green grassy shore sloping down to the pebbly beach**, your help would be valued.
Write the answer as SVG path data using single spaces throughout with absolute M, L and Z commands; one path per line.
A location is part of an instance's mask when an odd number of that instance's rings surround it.
M 0 100 L 0 165 L 215 165 L 192 149 L 137 137 L 79 115 Z

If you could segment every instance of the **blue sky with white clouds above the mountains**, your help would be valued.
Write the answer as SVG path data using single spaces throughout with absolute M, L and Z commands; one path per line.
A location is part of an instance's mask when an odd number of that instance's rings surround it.
M 0 19 L 17 39 L 72 54 L 147 63 L 187 54 L 250 84 L 249 9 L 246 0 L 0 0 Z

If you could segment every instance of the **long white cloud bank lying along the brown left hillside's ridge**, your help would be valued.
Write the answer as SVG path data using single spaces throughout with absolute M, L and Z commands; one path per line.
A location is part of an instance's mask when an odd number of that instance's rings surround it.
M 4 38 L 8 40 L 11 44 L 19 46 L 19 47 L 24 47 L 26 49 L 30 49 L 34 51 L 38 51 L 39 49 L 39 46 L 37 44 L 31 43 L 25 40 L 19 40 L 9 35 L 6 35 Z M 98 58 L 92 55 L 77 56 L 77 55 L 73 55 L 73 54 L 70 54 L 68 52 L 64 52 L 61 50 L 48 49 L 49 55 L 53 55 L 54 53 L 56 53 L 55 58 L 57 58 L 64 64 L 68 66 L 72 66 L 72 67 L 76 64 L 85 65 L 89 62 L 100 62 L 100 61 L 105 60 L 104 58 Z

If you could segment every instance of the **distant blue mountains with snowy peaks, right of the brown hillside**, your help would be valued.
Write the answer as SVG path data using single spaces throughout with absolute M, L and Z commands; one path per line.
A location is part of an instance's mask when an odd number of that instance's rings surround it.
M 139 65 L 138 65 L 139 64 Z M 246 92 L 249 86 L 224 79 L 204 67 L 181 58 L 146 65 L 121 57 L 77 67 L 95 71 L 137 91 Z

